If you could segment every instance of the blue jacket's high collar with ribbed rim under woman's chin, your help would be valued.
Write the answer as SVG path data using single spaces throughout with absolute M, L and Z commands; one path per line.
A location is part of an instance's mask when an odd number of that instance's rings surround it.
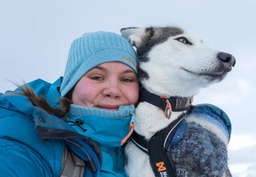
M 113 112 L 71 104 L 67 121 L 72 126 L 74 122 L 82 120 L 82 124 L 73 126 L 79 134 L 92 138 L 102 146 L 119 147 L 123 138 L 130 132 L 133 114 L 133 105 L 122 106 Z

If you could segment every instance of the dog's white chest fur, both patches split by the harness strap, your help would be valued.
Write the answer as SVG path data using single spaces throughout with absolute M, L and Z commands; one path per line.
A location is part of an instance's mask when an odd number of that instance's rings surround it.
M 171 119 L 168 120 L 162 110 L 159 110 L 152 104 L 141 103 L 136 108 L 134 130 L 146 139 L 150 139 L 156 132 L 165 128 L 180 114 L 180 112 L 174 113 Z M 149 156 L 145 152 L 141 151 L 131 141 L 126 145 L 125 151 L 129 162 L 126 164 L 126 171 L 129 176 L 154 177 Z

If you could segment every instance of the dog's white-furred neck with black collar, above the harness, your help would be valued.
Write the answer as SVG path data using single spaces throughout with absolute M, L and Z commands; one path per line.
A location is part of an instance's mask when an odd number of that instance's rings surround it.
M 150 138 L 155 132 L 176 120 L 182 112 L 190 109 L 192 97 L 158 96 L 140 88 L 140 103 L 136 108 L 134 130 Z M 139 123 L 139 124 L 138 124 Z

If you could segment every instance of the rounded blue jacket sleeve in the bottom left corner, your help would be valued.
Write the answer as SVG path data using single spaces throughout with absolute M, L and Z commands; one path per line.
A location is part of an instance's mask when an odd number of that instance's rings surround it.
M 41 155 L 18 141 L 1 138 L 0 155 L 0 171 L 4 176 L 52 176 Z

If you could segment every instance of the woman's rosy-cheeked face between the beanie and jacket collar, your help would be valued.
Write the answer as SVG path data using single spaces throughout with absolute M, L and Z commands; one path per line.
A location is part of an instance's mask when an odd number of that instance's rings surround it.
M 118 110 L 138 102 L 138 80 L 130 66 L 111 61 L 90 69 L 74 86 L 72 102 L 79 106 Z

